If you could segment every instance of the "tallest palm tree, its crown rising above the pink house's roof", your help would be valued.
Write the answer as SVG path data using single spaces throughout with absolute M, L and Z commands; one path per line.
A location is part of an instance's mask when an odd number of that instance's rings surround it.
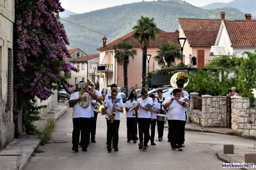
M 157 28 L 154 23 L 154 18 L 143 17 L 137 21 L 137 24 L 132 28 L 135 30 L 132 37 L 140 43 L 142 51 L 142 87 L 145 87 L 145 76 L 146 76 L 146 62 L 147 62 L 147 48 L 150 41 L 155 41 L 157 34 L 161 31 Z

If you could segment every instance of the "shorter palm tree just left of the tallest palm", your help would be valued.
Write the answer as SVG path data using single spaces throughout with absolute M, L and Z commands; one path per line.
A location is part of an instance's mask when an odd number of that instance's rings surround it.
M 130 42 L 121 41 L 120 43 L 115 45 L 115 59 L 117 64 L 124 67 L 124 87 L 127 87 L 127 67 L 129 64 L 129 57 L 134 59 L 134 55 L 137 55 L 137 50 L 132 50 L 133 45 Z

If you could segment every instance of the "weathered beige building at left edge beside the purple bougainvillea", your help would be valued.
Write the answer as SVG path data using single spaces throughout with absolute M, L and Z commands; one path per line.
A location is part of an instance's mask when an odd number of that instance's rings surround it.
M 15 138 L 13 123 L 13 24 L 15 1 L 0 1 L 0 150 Z

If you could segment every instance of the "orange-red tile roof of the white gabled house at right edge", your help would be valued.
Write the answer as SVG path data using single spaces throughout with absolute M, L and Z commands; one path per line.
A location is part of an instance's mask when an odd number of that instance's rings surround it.
M 256 20 L 224 20 L 232 46 L 256 46 Z

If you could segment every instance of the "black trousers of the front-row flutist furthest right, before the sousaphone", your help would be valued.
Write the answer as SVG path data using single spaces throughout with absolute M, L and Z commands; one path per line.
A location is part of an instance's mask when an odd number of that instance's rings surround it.
M 169 126 L 169 140 L 172 148 L 176 148 L 176 144 L 178 148 L 182 147 L 182 143 L 184 142 L 184 128 L 186 121 L 184 120 L 168 120 Z

